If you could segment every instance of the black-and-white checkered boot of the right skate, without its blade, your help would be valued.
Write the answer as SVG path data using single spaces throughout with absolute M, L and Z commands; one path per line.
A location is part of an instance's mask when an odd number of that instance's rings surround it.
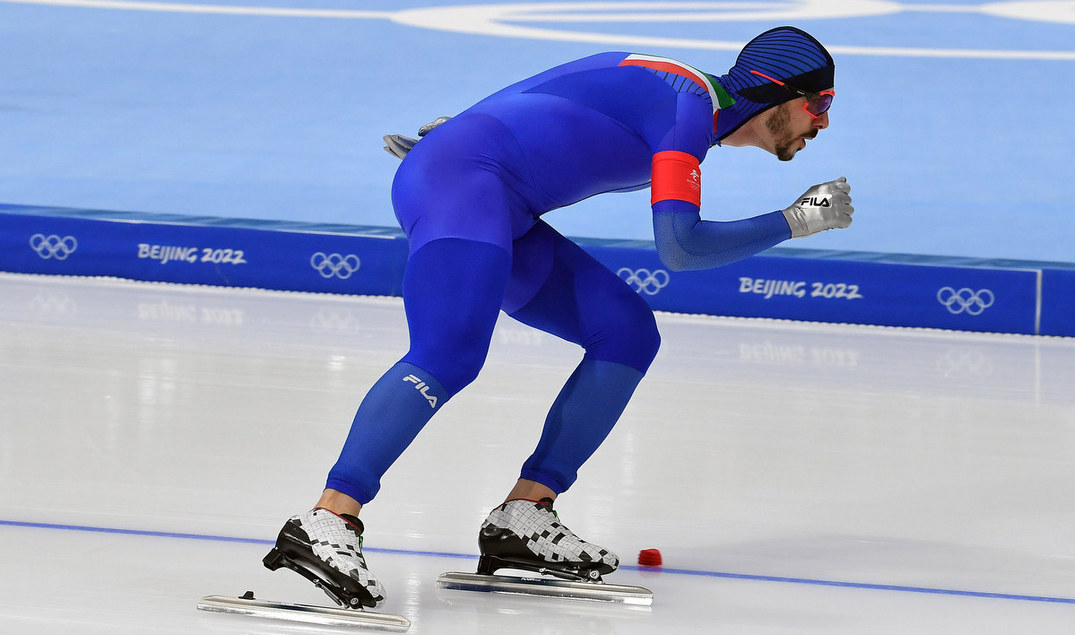
M 564 526 L 548 499 L 508 501 L 493 509 L 482 524 L 478 547 L 483 555 L 535 565 L 559 564 L 601 574 L 619 566 L 615 553 L 583 540 Z

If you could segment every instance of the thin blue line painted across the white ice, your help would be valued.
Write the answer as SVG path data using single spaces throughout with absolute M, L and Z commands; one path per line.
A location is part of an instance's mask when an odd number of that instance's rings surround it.
M 181 540 L 207 540 L 215 543 L 242 543 L 249 545 L 273 545 L 273 540 L 262 538 L 244 538 L 240 536 L 220 536 L 214 534 L 191 534 L 181 532 L 158 532 L 149 530 L 133 530 L 121 528 L 89 526 L 80 524 L 59 524 L 51 522 L 26 522 L 20 520 L 0 520 L 0 526 L 23 529 L 56 530 L 70 532 L 88 532 L 126 536 L 142 536 L 152 538 L 170 538 Z M 418 555 L 424 558 L 456 558 L 460 560 L 477 560 L 476 555 L 452 553 L 444 551 L 414 551 L 408 549 L 375 549 L 367 548 L 370 553 L 390 553 L 397 555 Z M 626 571 L 660 572 L 665 575 L 699 576 L 706 578 L 723 578 L 730 580 L 750 580 L 757 582 L 783 582 L 787 585 L 809 585 L 815 587 L 838 587 L 845 589 L 863 589 L 869 591 L 897 591 L 901 593 L 924 593 L 930 595 L 954 595 L 961 597 L 980 597 L 986 600 L 1008 600 L 1018 602 L 1044 602 L 1052 604 L 1075 604 L 1072 597 L 1054 597 L 1048 595 L 1019 595 L 1013 593 L 989 593 L 985 591 L 963 591 L 958 589 L 933 589 L 929 587 L 904 587 L 901 585 L 875 585 L 869 582 L 846 582 L 837 580 L 817 580 L 812 578 L 789 578 L 780 576 L 758 576 L 751 574 L 733 574 L 725 572 L 694 571 L 686 568 L 654 568 L 624 565 Z

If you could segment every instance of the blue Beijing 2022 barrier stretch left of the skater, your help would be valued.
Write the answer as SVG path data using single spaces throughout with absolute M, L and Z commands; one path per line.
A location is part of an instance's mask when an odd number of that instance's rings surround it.
M 0 270 L 368 295 L 402 292 L 396 230 L 0 205 Z

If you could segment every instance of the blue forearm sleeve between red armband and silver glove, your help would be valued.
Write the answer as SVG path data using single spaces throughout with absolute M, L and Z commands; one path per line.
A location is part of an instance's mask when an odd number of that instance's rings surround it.
M 743 220 L 702 220 L 683 201 L 654 205 L 657 256 L 672 271 L 714 269 L 754 256 L 791 237 L 783 212 Z

